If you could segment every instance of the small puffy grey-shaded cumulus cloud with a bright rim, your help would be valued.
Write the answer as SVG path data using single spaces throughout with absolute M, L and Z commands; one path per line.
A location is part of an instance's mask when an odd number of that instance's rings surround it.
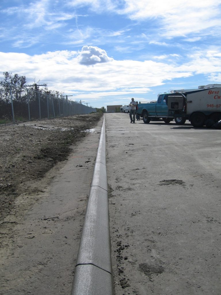
M 96 63 L 107 63 L 112 61 L 106 51 L 94 46 L 83 46 L 78 56 L 78 61 L 81 65 L 95 65 Z

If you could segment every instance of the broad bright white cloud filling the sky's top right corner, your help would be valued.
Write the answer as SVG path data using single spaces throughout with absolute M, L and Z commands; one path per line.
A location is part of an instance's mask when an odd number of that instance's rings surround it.
M 205 30 L 221 26 L 220 0 L 126 0 L 124 13 L 133 20 L 159 19 L 165 37 L 205 34 Z M 212 16 L 212 17 L 211 17 Z M 211 33 L 211 32 L 210 32 Z M 199 36 L 197 36 L 199 37 Z

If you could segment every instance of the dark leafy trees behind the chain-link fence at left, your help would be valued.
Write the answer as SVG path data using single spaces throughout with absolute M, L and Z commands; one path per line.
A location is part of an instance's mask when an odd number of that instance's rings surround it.
M 37 83 L 28 87 L 25 76 L 12 75 L 9 72 L 3 72 L 3 75 L 0 84 L 0 119 L 12 118 L 11 95 L 13 111 L 17 118 L 25 119 L 30 114 L 33 119 L 39 118 L 39 114 L 45 118 L 49 113 L 58 114 L 60 110 L 63 110 L 64 115 L 64 107 L 62 109 L 60 104 L 65 102 L 66 105 L 68 102 L 61 97 L 63 93 L 49 90 L 47 86 L 39 88 Z

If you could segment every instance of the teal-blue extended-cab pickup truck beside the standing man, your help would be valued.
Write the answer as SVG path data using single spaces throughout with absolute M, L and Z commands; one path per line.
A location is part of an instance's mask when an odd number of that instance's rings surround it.
M 186 120 L 184 118 L 174 118 L 172 112 L 168 112 L 167 99 L 171 93 L 159 94 L 156 103 L 138 104 L 138 114 L 145 124 L 156 119 L 163 119 L 165 123 L 169 123 L 175 119 L 176 124 L 184 124 Z

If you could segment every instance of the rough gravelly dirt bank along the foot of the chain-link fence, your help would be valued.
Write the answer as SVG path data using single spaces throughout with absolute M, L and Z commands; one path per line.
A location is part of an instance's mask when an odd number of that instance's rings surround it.
M 37 192 L 45 174 L 67 159 L 102 114 L 0 126 L 0 220 L 13 209 L 17 196 Z M 71 147 L 72 146 L 72 147 Z

